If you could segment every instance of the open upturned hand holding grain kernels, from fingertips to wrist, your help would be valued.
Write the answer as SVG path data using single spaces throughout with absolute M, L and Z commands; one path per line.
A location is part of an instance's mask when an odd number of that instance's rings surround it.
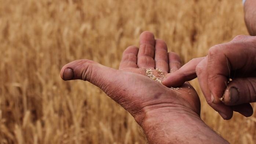
M 61 77 L 82 79 L 100 87 L 142 124 L 147 112 L 164 116 L 166 109 L 173 107 L 200 116 L 200 100 L 189 83 L 179 89 L 160 83 L 180 67 L 179 56 L 168 53 L 165 42 L 155 39 L 151 32 L 143 32 L 139 48 L 130 46 L 124 51 L 119 70 L 82 59 L 63 66 Z

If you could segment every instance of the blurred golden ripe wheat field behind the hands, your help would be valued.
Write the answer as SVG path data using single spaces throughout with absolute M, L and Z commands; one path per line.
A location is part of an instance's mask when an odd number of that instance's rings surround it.
M 76 59 L 118 69 L 143 31 L 183 64 L 248 35 L 242 0 L 0 0 L 0 144 L 146 144 L 134 118 L 98 87 L 59 76 Z M 191 84 L 206 124 L 232 144 L 255 143 L 255 114 L 223 120 L 197 79 Z

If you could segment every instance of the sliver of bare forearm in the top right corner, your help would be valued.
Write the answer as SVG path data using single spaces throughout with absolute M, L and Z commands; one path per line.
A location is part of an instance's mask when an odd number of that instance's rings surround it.
M 250 35 L 256 35 L 256 0 L 246 0 L 244 3 L 244 19 Z

